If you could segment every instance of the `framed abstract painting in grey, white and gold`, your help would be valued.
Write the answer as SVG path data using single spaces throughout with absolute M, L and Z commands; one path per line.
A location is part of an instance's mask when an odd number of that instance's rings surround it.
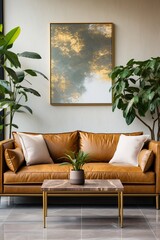
M 50 103 L 112 103 L 112 23 L 50 24 Z

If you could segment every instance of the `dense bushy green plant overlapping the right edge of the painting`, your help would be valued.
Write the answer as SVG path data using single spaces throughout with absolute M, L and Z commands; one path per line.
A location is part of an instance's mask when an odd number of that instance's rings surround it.
M 110 73 L 113 80 L 113 111 L 123 112 L 126 123 L 139 119 L 160 140 L 160 57 L 145 61 L 131 59 L 125 66 L 116 66 Z M 146 121 L 146 115 L 151 121 Z

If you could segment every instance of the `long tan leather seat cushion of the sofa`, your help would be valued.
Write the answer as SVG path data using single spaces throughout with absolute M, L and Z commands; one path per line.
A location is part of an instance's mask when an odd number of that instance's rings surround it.
M 155 173 L 143 173 L 140 167 L 109 163 L 86 163 L 86 179 L 120 179 L 124 184 L 155 184 Z M 41 164 L 24 166 L 17 173 L 4 173 L 4 184 L 42 184 L 44 179 L 68 179 L 71 166 Z

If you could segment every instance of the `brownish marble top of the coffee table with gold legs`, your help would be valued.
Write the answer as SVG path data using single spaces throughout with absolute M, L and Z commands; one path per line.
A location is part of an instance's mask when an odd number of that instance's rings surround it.
M 85 180 L 84 185 L 71 185 L 69 180 L 44 180 L 41 189 L 43 191 L 78 191 L 78 192 L 122 192 L 124 187 L 119 179 Z

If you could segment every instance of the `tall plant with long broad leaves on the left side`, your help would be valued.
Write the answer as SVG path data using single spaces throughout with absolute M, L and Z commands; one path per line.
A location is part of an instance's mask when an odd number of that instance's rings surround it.
M 15 27 L 6 35 L 3 34 L 3 26 L 0 25 L 0 68 L 3 69 L 5 79 L 0 79 L 0 111 L 1 114 L 0 130 L 4 127 L 9 127 L 9 137 L 11 137 L 12 127 L 18 128 L 17 124 L 13 123 L 15 113 L 29 112 L 32 109 L 23 104 L 28 101 L 29 94 L 34 94 L 39 97 L 40 94 L 31 85 L 30 79 L 37 75 L 47 77 L 33 69 L 23 69 L 20 58 L 41 59 L 41 56 L 35 52 L 15 53 L 11 51 L 15 40 L 20 34 L 20 27 Z

